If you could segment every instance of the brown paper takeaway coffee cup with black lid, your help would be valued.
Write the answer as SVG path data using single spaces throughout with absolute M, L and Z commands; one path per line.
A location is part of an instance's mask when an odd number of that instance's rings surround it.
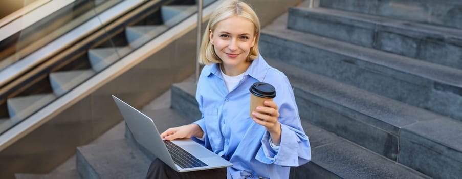
M 276 97 L 276 90 L 271 84 L 256 82 L 250 86 L 250 118 L 253 118 L 252 111 L 256 111 L 257 106 L 265 106 L 263 101 Z

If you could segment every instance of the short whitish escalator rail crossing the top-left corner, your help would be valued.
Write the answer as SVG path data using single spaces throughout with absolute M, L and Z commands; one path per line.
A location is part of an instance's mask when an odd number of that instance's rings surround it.
M 29 13 L 25 13 L 19 18 L 11 21 L 0 28 L 0 41 L 3 41 L 13 34 L 31 26 L 42 18 L 56 12 L 57 10 L 73 3 L 75 0 L 51 1 Z

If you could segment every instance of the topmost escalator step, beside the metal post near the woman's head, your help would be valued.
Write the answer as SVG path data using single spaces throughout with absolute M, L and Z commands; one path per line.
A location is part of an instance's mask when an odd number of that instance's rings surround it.
M 161 7 L 162 20 L 168 27 L 178 24 L 196 11 L 196 5 L 165 5 Z

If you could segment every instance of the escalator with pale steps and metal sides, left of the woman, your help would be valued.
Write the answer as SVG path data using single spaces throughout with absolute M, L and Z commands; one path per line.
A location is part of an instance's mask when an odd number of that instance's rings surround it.
M 31 131 L 21 123 L 196 11 L 194 0 L 77 0 L 2 39 L 0 151 Z

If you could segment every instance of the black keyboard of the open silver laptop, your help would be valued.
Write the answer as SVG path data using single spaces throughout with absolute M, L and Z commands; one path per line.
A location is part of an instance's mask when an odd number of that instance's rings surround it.
M 164 144 L 167 146 L 168 152 L 170 153 L 173 162 L 175 162 L 175 164 L 179 165 L 181 168 L 208 166 L 173 142 L 164 140 Z

